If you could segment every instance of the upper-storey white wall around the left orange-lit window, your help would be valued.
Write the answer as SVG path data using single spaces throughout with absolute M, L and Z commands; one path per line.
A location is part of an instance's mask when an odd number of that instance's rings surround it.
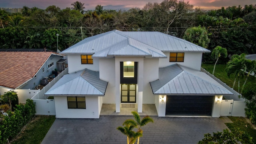
M 80 54 L 68 55 L 68 73 L 76 72 L 88 68 L 89 70 L 99 71 L 99 58 L 93 58 L 93 64 L 81 64 Z

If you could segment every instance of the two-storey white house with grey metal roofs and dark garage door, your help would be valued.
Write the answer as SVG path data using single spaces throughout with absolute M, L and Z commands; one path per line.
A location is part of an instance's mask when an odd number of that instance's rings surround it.
M 102 104 L 155 104 L 158 116 L 220 116 L 230 90 L 201 72 L 210 52 L 160 32 L 118 30 L 86 38 L 62 51 L 69 74 L 44 95 L 56 118 L 99 118 Z

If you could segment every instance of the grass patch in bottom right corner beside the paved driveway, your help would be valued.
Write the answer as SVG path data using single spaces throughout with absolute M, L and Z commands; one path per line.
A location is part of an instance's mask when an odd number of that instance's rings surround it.
M 226 126 L 232 131 L 234 128 L 240 128 L 240 130 L 247 132 L 252 137 L 252 142 L 256 144 L 256 130 L 252 127 L 250 123 L 246 121 L 243 117 L 233 117 L 229 116 L 233 123 L 225 123 Z

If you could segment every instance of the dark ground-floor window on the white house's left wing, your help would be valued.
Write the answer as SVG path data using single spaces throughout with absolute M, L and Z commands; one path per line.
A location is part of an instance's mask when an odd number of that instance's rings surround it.
M 85 97 L 68 96 L 68 108 L 86 108 Z

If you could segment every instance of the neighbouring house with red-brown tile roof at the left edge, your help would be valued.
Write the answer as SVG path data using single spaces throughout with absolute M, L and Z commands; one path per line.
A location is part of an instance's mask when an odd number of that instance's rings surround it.
M 47 84 L 52 71 L 63 69 L 62 58 L 54 52 L 0 52 L 0 94 Z

